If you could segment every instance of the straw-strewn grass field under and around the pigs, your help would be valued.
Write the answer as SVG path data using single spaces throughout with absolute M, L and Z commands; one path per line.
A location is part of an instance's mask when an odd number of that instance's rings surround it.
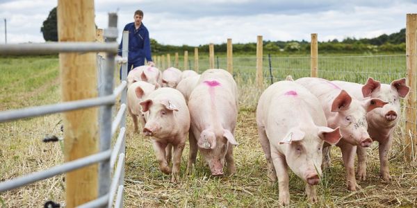
M 292 74 L 309 76 L 309 58 L 272 58 L 272 76 L 277 81 Z M 327 60 L 327 61 L 326 61 Z M 208 63 L 208 61 L 207 61 Z M 200 70 L 207 68 L 204 60 Z M 125 207 L 279 207 L 277 184 L 268 184 L 266 163 L 256 132 L 255 109 L 261 90 L 254 87 L 252 57 L 234 58 L 235 78 L 239 85 L 240 111 L 236 126 L 234 158 L 237 173 L 211 177 L 210 170 L 197 157 L 195 171 L 185 175 L 188 144 L 181 160 L 181 180 L 159 171 L 149 139 L 133 133 L 127 118 Z M 219 65 L 225 68 L 224 58 Z M 320 66 L 322 66 L 320 68 Z M 389 83 L 404 77 L 405 56 L 323 57 L 319 76 L 363 83 L 368 76 Z M 357 69 L 353 71 L 352 69 Z M 58 58 L 0 58 L 0 110 L 17 109 L 60 101 Z M 264 60 L 265 84 L 270 82 L 268 59 Z M 266 86 L 266 85 L 265 85 Z M 0 180 L 44 170 L 62 164 L 59 143 L 44 144 L 45 135 L 58 135 L 60 114 L 0 123 Z M 347 191 L 345 169 L 338 148 L 332 149 L 332 168 L 324 172 L 318 185 L 319 202 L 306 201 L 305 185 L 291 173 L 292 207 L 416 207 L 417 164 L 404 162 L 404 125 L 395 133 L 390 154 L 388 183 L 379 179 L 377 144 L 368 150 L 368 178 L 358 181 L 359 191 Z M 0 193 L 2 207 L 42 207 L 47 200 L 64 203 L 63 175 L 36 182 L 21 189 Z

